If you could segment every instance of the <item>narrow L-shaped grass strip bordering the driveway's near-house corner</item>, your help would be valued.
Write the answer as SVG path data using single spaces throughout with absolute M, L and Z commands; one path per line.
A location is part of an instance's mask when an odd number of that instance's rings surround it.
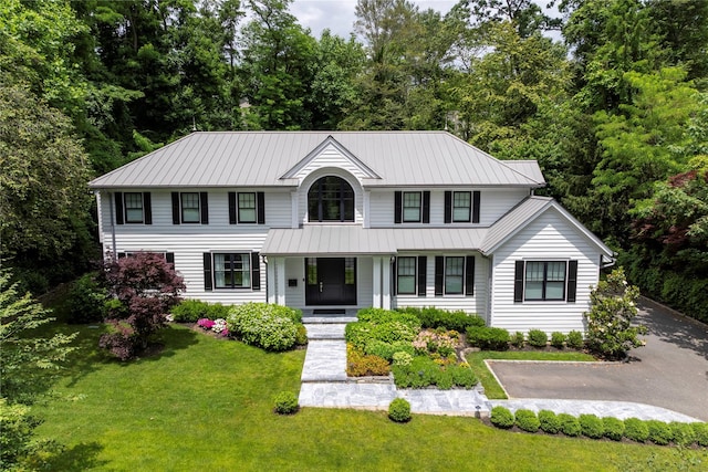
M 475 375 L 485 387 L 487 398 L 504 399 L 507 395 L 494 376 L 489 371 L 486 359 L 508 359 L 508 360 L 574 360 L 592 361 L 593 356 L 577 352 L 545 352 L 545 350 L 478 350 L 467 354 L 467 363 L 475 371 Z

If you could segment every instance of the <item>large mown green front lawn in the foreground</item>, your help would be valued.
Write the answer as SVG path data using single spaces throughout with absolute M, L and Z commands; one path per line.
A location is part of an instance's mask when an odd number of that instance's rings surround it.
M 513 433 L 472 418 L 398 424 L 385 412 L 314 408 L 280 417 L 272 397 L 299 390 L 304 350 L 267 354 L 171 326 L 159 356 L 119 364 L 94 349 L 100 329 L 80 331 L 82 349 L 58 386 L 73 400 L 37 411 L 40 436 L 66 444 L 53 470 L 675 470 L 683 453 L 708 463 L 706 451 Z

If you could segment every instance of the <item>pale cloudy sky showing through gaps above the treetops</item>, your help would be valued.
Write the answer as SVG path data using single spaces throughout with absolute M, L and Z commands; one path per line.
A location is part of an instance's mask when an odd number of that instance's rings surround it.
M 449 0 L 413 0 L 420 10 L 429 8 L 447 13 L 457 1 Z M 310 28 L 314 38 L 320 38 L 322 30 L 329 28 L 332 33 L 348 38 L 354 32 L 354 8 L 356 0 L 294 0 L 290 12 L 298 22 Z

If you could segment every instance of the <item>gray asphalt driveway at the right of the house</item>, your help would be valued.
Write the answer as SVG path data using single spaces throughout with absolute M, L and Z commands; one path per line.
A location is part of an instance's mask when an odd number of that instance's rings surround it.
M 629 363 L 489 364 L 510 398 L 636 401 L 708 421 L 708 327 L 649 301 L 646 346 Z

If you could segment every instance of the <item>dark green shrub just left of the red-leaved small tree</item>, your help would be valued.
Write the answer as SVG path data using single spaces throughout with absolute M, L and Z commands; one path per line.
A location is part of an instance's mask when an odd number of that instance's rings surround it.
M 85 274 L 69 291 L 61 311 L 67 323 L 101 322 L 106 316 L 106 290 L 96 281 L 96 274 Z

